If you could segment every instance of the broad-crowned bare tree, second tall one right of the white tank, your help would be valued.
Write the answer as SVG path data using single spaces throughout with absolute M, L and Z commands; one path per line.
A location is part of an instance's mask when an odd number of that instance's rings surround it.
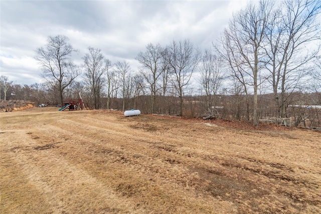
M 200 51 L 193 48 L 190 40 L 175 42 L 168 46 L 167 63 L 171 71 L 172 86 L 180 98 L 180 115 L 183 115 L 184 91 L 197 69 Z

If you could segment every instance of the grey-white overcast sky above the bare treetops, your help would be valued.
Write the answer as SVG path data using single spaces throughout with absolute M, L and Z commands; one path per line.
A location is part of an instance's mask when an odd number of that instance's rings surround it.
M 190 39 L 210 48 L 246 1 L 0 1 L 1 75 L 16 84 L 41 83 L 35 50 L 48 36 L 65 35 L 79 50 L 99 48 L 112 63 L 138 70 L 137 53 L 148 43 L 163 46 Z

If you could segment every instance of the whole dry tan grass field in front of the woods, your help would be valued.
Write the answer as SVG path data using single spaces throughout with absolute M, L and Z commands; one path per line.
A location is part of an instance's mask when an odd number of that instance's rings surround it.
M 112 111 L 2 112 L 1 213 L 321 213 L 321 133 Z

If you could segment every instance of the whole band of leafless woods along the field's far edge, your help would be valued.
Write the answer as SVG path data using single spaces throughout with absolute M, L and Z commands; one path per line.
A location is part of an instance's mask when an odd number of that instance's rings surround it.
M 320 11 L 319 1 L 251 2 L 207 49 L 189 39 L 149 43 L 137 51 L 137 69 L 98 47 L 76 65 L 68 38 L 50 36 L 35 55 L 46 83 L 2 76 L 0 96 L 50 105 L 81 96 L 94 109 L 320 127 Z

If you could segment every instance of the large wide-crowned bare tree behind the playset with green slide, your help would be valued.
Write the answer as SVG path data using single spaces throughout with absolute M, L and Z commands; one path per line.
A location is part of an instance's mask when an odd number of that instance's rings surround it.
M 38 48 L 35 57 L 43 71 L 41 76 L 52 87 L 58 87 L 61 105 L 65 88 L 80 74 L 71 58 L 76 50 L 67 42 L 66 36 L 49 36 L 47 45 Z

